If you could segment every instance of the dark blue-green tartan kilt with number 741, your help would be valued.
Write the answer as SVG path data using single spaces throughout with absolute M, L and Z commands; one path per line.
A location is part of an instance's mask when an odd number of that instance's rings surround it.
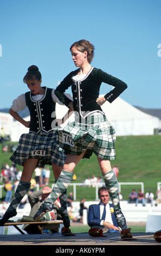
M 23 166 L 23 162 L 27 159 L 39 159 L 38 166 L 41 168 L 45 164 L 51 165 L 51 162 L 58 166 L 64 166 L 66 155 L 57 144 L 55 131 L 23 133 L 10 160 Z

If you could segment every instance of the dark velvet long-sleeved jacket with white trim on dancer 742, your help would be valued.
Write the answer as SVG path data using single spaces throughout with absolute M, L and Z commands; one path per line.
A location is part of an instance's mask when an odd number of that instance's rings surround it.
M 100 86 L 102 82 L 114 87 L 113 90 L 104 95 L 105 99 L 110 103 L 127 88 L 126 83 L 107 74 L 101 69 L 92 67 L 81 81 L 73 80 L 73 76 L 76 76 L 77 73 L 78 69 L 67 75 L 55 89 L 55 95 L 61 102 L 68 106 L 71 100 L 64 95 L 64 92 L 71 86 L 73 94 L 73 108 L 81 117 L 86 117 L 89 112 L 102 112 L 102 108 L 96 102 L 96 99 L 100 94 Z

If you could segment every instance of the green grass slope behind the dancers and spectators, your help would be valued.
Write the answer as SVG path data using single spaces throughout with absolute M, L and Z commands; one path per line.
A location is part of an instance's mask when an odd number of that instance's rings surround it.
M 16 144 L 16 143 L 12 143 Z M 119 168 L 119 182 L 144 182 L 144 191 L 156 193 L 157 182 L 161 182 L 160 174 L 160 145 L 161 136 L 124 136 L 117 137 L 115 143 L 116 160 L 112 161 L 112 167 L 116 165 Z M 9 163 L 9 157 L 12 153 L 2 153 L 2 144 L 0 144 L 0 163 Z M 22 170 L 22 166 L 17 166 Z M 54 183 L 54 176 L 51 169 L 49 185 Z M 82 182 L 88 176 L 101 176 L 100 167 L 97 158 L 93 154 L 90 159 L 82 159 L 75 169 L 77 179 L 72 182 Z M 33 174 L 34 177 L 34 174 Z M 121 186 L 121 194 L 124 200 L 128 200 L 128 195 L 135 188 L 137 191 L 140 186 L 126 185 Z M 70 186 L 68 193 L 73 191 Z M 4 194 L 4 192 L 3 192 Z M 86 200 L 95 200 L 95 188 L 77 187 L 77 200 L 81 198 Z

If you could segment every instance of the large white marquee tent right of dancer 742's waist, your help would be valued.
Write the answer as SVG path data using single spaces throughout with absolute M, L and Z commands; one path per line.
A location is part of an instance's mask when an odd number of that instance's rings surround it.
M 133 107 L 118 97 L 112 103 L 106 102 L 102 109 L 114 126 L 117 136 L 153 135 L 161 127 L 161 120 Z

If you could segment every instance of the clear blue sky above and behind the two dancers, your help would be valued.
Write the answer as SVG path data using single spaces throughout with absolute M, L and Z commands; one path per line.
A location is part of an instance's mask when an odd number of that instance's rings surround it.
M 1 0 L 0 109 L 28 91 L 30 65 L 42 86 L 56 88 L 76 69 L 69 48 L 80 39 L 95 45 L 92 66 L 127 83 L 123 100 L 161 108 L 160 9 L 160 0 Z M 110 89 L 103 84 L 100 93 Z

